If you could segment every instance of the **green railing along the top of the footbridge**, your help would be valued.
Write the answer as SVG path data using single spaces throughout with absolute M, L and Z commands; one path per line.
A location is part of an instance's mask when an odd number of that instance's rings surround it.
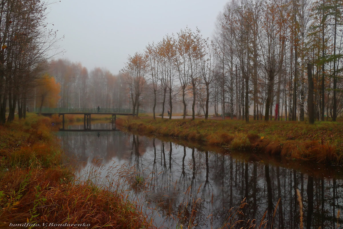
M 132 114 L 132 109 L 123 108 L 100 108 L 99 112 L 97 108 L 42 108 L 41 113 L 120 113 L 120 114 Z M 34 109 L 35 113 L 39 113 L 39 108 Z M 145 114 L 145 111 L 138 110 L 139 114 Z

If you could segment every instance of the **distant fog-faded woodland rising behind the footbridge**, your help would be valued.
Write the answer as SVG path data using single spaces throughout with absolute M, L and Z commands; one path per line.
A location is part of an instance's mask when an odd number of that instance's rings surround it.
M 125 82 L 107 69 L 90 71 L 66 59 L 49 62 L 48 72 L 61 86 L 58 106 L 63 108 L 128 108 Z

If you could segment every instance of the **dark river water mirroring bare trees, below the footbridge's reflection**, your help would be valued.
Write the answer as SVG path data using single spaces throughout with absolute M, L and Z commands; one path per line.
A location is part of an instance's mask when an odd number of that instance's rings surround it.
M 303 199 L 305 228 L 336 228 L 337 222 L 342 223 L 337 218 L 342 209 L 342 179 L 137 135 L 60 138 L 66 151 L 85 161 L 84 167 L 94 157 L 102 158 L 102 164 L 114 160 L 134 165 L 137 175 L 147 182 L 148 207 L 156 207 L 164 224 L 174 228 L 181 223 L 194 228 L 222 227 L 230 220 L 230 208 L 238 207 L 244 198 L 247 205 L 237 219 L 256 219 L 259 225 L 267 211 L 267 228 L 299 228 L 297 188 Z

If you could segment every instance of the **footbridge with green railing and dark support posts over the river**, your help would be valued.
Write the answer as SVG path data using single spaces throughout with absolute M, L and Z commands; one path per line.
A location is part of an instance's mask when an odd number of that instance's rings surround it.
M 34 110 L 35 113 L 39 113 L 39 108 Z M 145 111 L 138 110 L 139 114 L 145 114 Z M 112 115 L 112 122 L 116 121 L 117 115 L 133 115 L 132 109 L 122 108 L 42 108 L 40 114 L 51 116 L 53 114 L 62 115 L 62 129 L 64 129 L 64 115 L 67 114 L 83 114 L 84 129 L 91 129 L 91 115 Z

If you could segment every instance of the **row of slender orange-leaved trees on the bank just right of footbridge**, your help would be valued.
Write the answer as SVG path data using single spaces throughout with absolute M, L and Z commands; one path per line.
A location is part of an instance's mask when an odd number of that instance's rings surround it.
M 196 103 L 201 99 L 205 117 L 209 113 L 210 83 L 215 74 L 214 49 L 209 39 L 202 38 L 200 31 L 189 28 L 175 36 L 167 35 L 157 44 L 146 47 L 145 53 L 129 56 L 121 70 L 130 90 L 133 110 L 139 107 L 144 87 L 154 95 L 153 115 L 158 95 L 162 96 L 162 116 L 166 100 L 173 113 L 173 104 L 183 104 L 184 118 L 187 113 L 188 97 L 192 100 L 192 117 L 195 117 Z M 198 103 L 199 104 L 199 103 Z

